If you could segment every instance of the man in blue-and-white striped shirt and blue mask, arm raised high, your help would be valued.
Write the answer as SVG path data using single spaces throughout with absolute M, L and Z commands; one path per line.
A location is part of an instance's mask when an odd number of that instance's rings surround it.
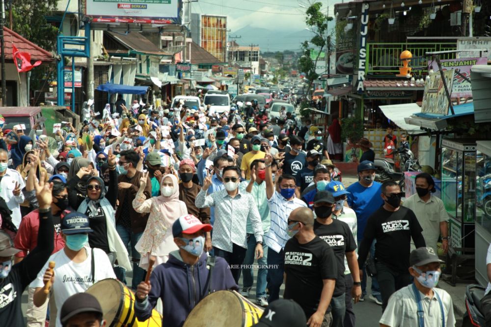
M 270 297 L 268 302 L 279 299 L 279 289 L 283 283 L 284 273 L 284 248 L 286 241 L 290 239 L 287 234 L 288 217 L 297 208 L 307 207 L 305 202 L 295 197 L 295 177 L 289 174 L 281 175 L 276 183 L 273 183 L 271 164 L 273 157 L 266 154 L 266 197 L 271 211 L 271 227 L 265 236 L 265 244 L 268 245 L 268 290 Z

